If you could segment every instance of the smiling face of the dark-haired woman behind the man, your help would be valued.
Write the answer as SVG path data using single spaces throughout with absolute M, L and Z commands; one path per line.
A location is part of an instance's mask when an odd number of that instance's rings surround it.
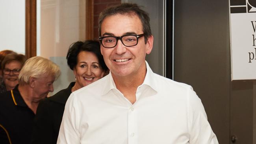
M 102 70 L 96 55 L 87 51 L 82 51 L 78 54 L 77 65 L 73 71 L 78 89 L 104 76 L 104 70 Z

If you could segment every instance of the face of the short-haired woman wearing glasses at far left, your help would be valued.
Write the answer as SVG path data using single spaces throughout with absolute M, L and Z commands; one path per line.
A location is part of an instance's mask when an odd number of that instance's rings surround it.
M 13 70 L 13 69 L 21 69 L 22 64 L 19 61 L 11 61 L 4 66 L 4 69 Z M 9 74 L 3 73 L 4 84 L 6 85 L 6 90 L 12 90 L 18 84 L 18 76 L 19 74 L 13 74 L 10 72 Z

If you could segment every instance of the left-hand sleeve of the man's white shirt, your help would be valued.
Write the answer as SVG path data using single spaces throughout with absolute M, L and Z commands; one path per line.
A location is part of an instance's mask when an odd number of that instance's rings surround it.
M 80 144 L 79 123 L 77 121 L 79 120 L 78 110 L 74 94 L 71 93 L 65 105 L 57 144 Z

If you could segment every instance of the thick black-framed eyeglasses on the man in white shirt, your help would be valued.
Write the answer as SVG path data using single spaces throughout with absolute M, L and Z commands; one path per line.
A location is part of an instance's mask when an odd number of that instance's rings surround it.
M 138 39 L 143 37 L 145 33 L 140 35 L 122 35 L 120 37 L 106 36 L 99 37 L 100 43 L 104 48 L 113 48 L 117 45 L 117 41 L 120 39 L 124 46 L 136 46 L 138 44 Z

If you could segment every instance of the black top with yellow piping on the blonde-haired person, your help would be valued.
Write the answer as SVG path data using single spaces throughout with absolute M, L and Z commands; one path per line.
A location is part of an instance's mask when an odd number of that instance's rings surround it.
M 29 144 L 35 114 L 26 105 L 17 85 L 0 94 L 0 144 Z

